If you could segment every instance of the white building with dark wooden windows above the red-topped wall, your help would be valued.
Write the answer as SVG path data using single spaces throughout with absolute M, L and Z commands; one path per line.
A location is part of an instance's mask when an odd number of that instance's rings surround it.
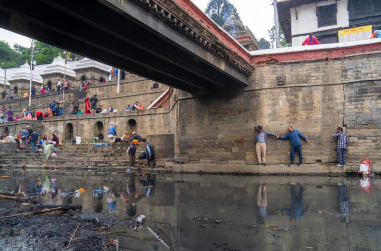
M 372 25 L 381 29 L 381 0 L 278 0 L 287 43 L 301 46 L 310 33 L 322 44 L 338 43 L 338 31 Z

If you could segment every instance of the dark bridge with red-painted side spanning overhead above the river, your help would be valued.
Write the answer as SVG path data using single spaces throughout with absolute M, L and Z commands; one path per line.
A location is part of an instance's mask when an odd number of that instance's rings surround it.
M 244 87 L 253 71 L 188 0 L 0 0 L 0 26 L 187 92 Z

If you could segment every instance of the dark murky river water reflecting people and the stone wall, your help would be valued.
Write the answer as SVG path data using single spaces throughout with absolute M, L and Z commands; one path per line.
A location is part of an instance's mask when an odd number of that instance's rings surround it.
M 41 189 L 43 203 L 82 204 L 83 213 L 115 217 L 113 229 L 124 231 L 109 237 L 120 250 L 381 250 L 378 178 L 95 170 L 2 175 L 10 177 L 0 180 L 1 188 Z M 72 193 L 80 188 L 85 191 Z M 144 224 L 130 223 L 141 214 Z

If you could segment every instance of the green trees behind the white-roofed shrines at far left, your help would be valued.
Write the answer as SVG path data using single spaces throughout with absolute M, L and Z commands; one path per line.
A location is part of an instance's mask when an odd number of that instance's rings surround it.
M 40 64 L 50 64 L 53 62 L 53 59 L 58 56 L 61 52 L 62 57 L 68 53 L 68 51 L 45 44 L 43 42 L 36 41 L 33 53 L 33 60 L 36 60 L 37 65 Z M 0 67 L 4 68 L 5 55 L 6 59 L 6 68 L 16 68 L 20 67 L 25 60 L 30 61 L 30 48 L 14 44 L 13 49 L 4 41 L 0 41 Z M 75 53 L 70 53 L 68 61 L 76 61 L 82 59 L 83 56 L 80 56 Z M 30 63 L 30 62 L 29 62 Z

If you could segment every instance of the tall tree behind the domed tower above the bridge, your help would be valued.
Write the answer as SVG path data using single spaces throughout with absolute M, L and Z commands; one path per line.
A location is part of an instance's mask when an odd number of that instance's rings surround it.
M 205 13 L 222 27 L 222 25 L 229 19 L 232 10 L 237 19 L 241 21 L 237 9 L 228 0 L 209 0 Z

